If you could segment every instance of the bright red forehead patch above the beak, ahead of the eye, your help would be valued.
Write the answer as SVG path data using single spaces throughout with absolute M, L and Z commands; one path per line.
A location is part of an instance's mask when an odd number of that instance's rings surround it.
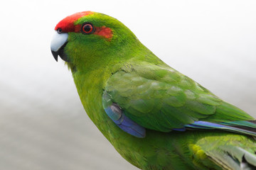
M 93 13 L 92 11 L 84 11 L 84 12 L 74 13 L 71 16 L 67 16 L 62 21 L 60 21 L 57 24 L 57 26 L 55 26 L 55 30 L 57 30 L 58 28 L 61 28 L 64 33 L 74 32 L 75 31 L 74 22 L 77 21 L 82 16 L 88 16 L 92 13 Z

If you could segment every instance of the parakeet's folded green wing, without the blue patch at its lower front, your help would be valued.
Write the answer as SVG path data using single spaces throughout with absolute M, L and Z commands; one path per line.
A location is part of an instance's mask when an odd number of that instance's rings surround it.
M 102 102 L 105 110 L 114 103 L 134 123 L 161 132 L 254 120 L 175 69 L 146 62 L 126 64 L 112 74 Z

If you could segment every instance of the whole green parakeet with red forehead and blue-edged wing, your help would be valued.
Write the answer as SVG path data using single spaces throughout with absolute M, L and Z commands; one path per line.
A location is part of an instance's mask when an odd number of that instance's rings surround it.
M 256 169 L 255 118 L 169 67 L 117 19 L 68 16 L 50 49 L 92 122 L 139 169 Z

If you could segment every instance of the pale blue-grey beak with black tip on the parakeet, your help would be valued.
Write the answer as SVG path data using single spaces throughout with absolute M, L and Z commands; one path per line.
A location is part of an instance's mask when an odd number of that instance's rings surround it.
M 53 40 L 50 42 L 50 50 L 53 54 L 54 59 L 58 62 L 58 55 L 62 60 L 68 62 L 68 57 L 64 53 L 64 47 L 68 44 L 68 33 L 55 33 Z

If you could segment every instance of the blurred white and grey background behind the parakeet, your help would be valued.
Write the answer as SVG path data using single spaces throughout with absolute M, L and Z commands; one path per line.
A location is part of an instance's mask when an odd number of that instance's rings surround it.
M 158 57 L 256 116 L 256 1 L 18 1 L 0 6 L 0 169 L 137 169 L 82 108 L 55 25 L 78 11 L 118 18 Z

